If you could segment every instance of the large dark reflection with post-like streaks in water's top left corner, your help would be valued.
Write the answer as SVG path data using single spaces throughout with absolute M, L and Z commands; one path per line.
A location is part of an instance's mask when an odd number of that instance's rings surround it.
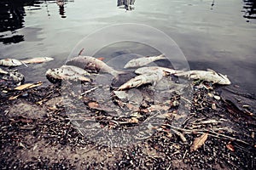
M 47 8 L 48 3 L 56 3 L 59 6 L 61 18 L 66 18 L 65 5 L 74 0 L 1 0 L 0 1 L 0 42 L 3 44 L 18 43 L 24 41 L 23 35 L 18 35 L 16 30 L 24 27 L 26 10 L 24 7 L 31 6 L 28 10 L 40 10 L 42 5 Z

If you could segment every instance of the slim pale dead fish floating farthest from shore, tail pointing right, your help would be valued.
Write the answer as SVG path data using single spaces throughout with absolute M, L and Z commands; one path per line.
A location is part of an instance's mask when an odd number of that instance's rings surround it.
M 160 54 L 158 56 L 151 56 L 151 57 L 142 57 L 138 59 L 131 59 L 126 65 L 124 66 L 125 69 L 131 68 L 131 67 L 140 67 L 143 65 L 148 65 L 151 62 L 154 62 L 156 60 L 160 59 L 166 59 L 166 56 L 164 54 Z

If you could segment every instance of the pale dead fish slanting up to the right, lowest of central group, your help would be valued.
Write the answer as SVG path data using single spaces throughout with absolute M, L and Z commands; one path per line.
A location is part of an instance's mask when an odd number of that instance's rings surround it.
M 128 82 L 125 82 L 117 90 L 124 90 L 127 88 L 137 88 L 142 86 L 143 84 L 148 84 L 148 83 L 155 85 L 155 83 L 159 82 L 162 77 L 163 75 L 157 71 L 154 73 L 145 73 L 137 77 L 131 78 L 131 80 L 129 80 Z

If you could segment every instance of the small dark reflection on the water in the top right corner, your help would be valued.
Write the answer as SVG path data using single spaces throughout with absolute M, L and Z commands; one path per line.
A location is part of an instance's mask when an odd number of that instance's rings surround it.
M 244 18 L 256 19 L 256 0 L 243 0 Z

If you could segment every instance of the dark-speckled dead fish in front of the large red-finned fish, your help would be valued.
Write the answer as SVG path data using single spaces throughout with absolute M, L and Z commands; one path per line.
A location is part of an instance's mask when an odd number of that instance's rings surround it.
M 49 69 L 46 71 L 45 76 L 49 79 L 49 82 L 55 82 L 53 80 L 90 82 L 90 78 L 84 77 L 79 72 L 73 71 L 73 69 L 68 67 Z

